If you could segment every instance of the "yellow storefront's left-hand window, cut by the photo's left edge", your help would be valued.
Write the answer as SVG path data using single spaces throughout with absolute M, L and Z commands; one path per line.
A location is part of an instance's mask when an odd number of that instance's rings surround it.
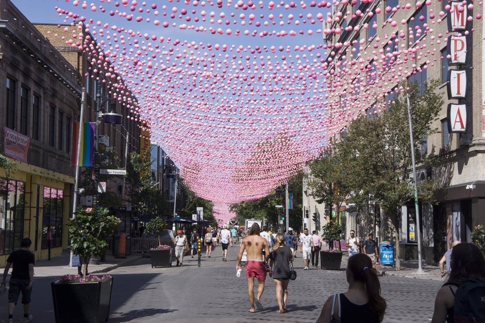
M 24 237 L 25 183 L 0 178 L 0 254 L 20 248 Z

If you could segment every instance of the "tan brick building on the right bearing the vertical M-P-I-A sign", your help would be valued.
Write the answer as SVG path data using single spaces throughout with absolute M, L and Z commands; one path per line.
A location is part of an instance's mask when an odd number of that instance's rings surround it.
M 446 10 L 445 6 L 449 3 L 433 1 L 426 5 L 423 2 L 421 6 L 413 3 L 410 10 L 404 10 L 406 2 L 400 0 L 353 0 L 346 5 L 340 3 L 333 7 L 332 22 L 324 25 L 324 29 L 330 31 L 324 35 L 326 43 L 342 44 L 340 48 L 327 49 L 330 54 L 326 61 L 328 66 L 339 68 L 335 62 L 342 62 L 343 66 L 345 61 L 353 59 L 361 65 L 360 74 L 354 78 L 357 91 L 361 93 L 356 99 L 356 105 L 349 101 L 338 102 L 346 104 L 352 111 L 356 111 L 353 108 L 357 105 L 361 107 L 363 112 L 353 112 L 355 114 L 373 112 L 373 109 L 378 108 L 376 101 L 389 102 L 394 95 L 390 91 L 397 85 L 394 76 L 399 72 L 404 75 L 410 72 L 408 80 L 418 81 L 420 86 L 432 78 L 441 80 L 439 93 L 445 99 L 445 105 L 439 114 L 439 121 L 433 124 L 439 132 L 427 138 L 427 144 L 421 150 L 424 154 L 443 154 L 446 162 L 435 169 L 418 167 L 419 178 L 433 176 L 439 178 L 443 185 L 437 195 L 438 205 L 420 202 L 423 255 L 428 263 L 439 260 L 444 251 L 451 247 L 453 240 L 469 241 L 473 226 L 485 223 L 485 123 L 482 118 L 485 111 L 482 109 L 484 28 L 482 20 L 474 19 L 468 23 L 466 29 L 469 34 L 466 37 L 469 46 L 465 49 L 467 62 L 461 66 L 451 66 L 447 59 L 448 42 L 444 41 L 445 37 L 438 36 L 446 35 L 449 31 L 449 19 L 461 19 L 457 10 L 453 13 Z M 386 7 L 396 8 L 398 5 L 402 6 L 400 10 L 386 10 Z M 438 16 L 440 11 L 445 13 L 443 17 Z M 348 19 L 344 18 L 346 15 Z M 355 18 L 351 19 L 352 15 Z M 438 19 L 442 21 L 438 23 Z M 424 32 L 426 28 L 427 34 Z M 458 35 L 458 32 L 453 31 L 449 35 Z M 408 51 L 409 55 L 404 54 L 404 51 Z M 403 63 L 404 59 L 407 62 Z M 398 70 L 398 66 L 403 69 Z M 469 73 L 464 99 L 448 99 L 449 70 L 452 69 L 466 69 Z M 412 73 L 415 70 L 418 73 Z M 368 86 L 380 77 L 386 80 L 381 83 L 384 85 L 382 88 Z M 334 84 L 332 86 L 338 87 L 338 82 Z M 342 94 L 341 98 L 345 98 L 346 93 Z M 451 134 L 448 131 L 447 107 L 448 104 L 458 103 L 468 106 L 469 125 L 466 133 Z M 355 117 L 355 114 L 348 117 Z M 341 125 L 336 123 L 330 132 L 339 138 L 341 129 Z M 403 206 L 401 222 L 401 255 L 415 258 L 414 201 Z

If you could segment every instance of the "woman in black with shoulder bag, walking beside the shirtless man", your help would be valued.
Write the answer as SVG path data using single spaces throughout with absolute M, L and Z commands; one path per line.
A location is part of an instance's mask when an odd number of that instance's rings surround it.
M 270 253 L 270 277 L 275 280 L 276 300 L 278 301 L 278 313 L 286 313 L 286 300 L 288 299 L 288 283 L 290 283 L 290 262 L 293 262 L 293 253 L 289 246 L 285 246 L 283 234 L 278 233 L 275 238 L 275 246 Z

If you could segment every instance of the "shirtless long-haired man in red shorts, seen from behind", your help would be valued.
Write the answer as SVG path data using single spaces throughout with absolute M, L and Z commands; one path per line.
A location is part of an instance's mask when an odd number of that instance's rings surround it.
M 247 253 L 246 261 L 246 277 L 247 277 L 247 287 L 249 294 L 249 302 L 251 302 L 251 308 L 248 312 L 256 312 L 254 305 L 259 311 L 263 310 L 259 299 L 264 291 L 264 280 L 266 279 L 266 266 L 262 261 L 263 250 L 265 251 L 265 261 L 268 261 L 270 255 L 270 247 L 268 246 L 268 241 L 265 238 L 259 236 L 259 225 L 254 223 L 249 229 L 247 237 L 242 239 L 241 247 L 239 248 L 238 260 L 236 262 L 236 271 L 242 269 L 239 265 L 241 262 L 242 254 L 244 249 Z M 258 279 L 258 295 L 254 297 L 254 277 Z

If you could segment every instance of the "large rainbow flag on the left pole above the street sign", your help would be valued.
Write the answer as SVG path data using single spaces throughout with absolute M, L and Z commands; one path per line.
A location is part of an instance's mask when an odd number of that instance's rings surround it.
M 78 153 L 78 134 L 79 122 L 72 124 L 72 154 L 71 166 L 76 166 L 76 158 Z M 94 152 L 94 123 L 81 123 L 81 149 L 79 151 L 79 166 L 89 167 L 93 166 L 93 152 Z

